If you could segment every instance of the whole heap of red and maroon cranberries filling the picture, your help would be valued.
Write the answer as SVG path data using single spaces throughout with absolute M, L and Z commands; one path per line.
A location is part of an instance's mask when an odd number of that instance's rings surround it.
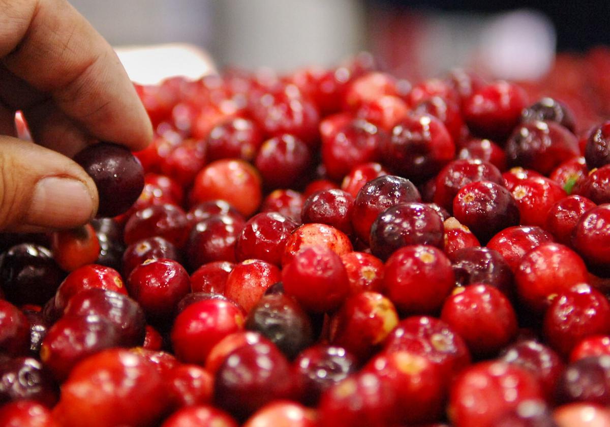
M 2 235 L 0 426 L 610 426 L 603 109 L 367 55 L 137 90 L 104 217 Z

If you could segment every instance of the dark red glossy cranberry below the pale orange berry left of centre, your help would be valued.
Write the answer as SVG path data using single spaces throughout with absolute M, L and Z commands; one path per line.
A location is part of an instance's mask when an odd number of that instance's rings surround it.
M 228 215 L 199 221 L 187 243 L 188 264 L 194 270 L 212 261 L 235 262 L 235 244 L 244 223 Z

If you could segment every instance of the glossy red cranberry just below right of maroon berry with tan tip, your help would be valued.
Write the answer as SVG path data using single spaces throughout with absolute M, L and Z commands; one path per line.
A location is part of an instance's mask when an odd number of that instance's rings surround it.
M 540 227 L 509 227 L 492 237 L 487 248 L 493 249 L 504 257 L 512 271 L 517 270 L 519 261 L 527 252 L 543 243 L 553 242 L 550 233 Z

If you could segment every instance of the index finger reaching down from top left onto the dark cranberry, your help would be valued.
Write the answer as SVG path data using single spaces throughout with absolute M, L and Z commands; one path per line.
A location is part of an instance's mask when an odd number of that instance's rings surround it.
M 65 0 L 0 0 L 0 57 L 85 131 L 143 149 L 152 128 L 110 45 Z

